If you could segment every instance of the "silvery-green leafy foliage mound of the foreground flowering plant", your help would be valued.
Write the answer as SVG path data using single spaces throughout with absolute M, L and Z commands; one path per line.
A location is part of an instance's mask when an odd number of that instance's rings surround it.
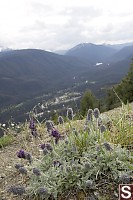
M 86 125 L 88 129 L 83 131 L 73 129 L 71 124 L 68 137 L 60 140 L 58 145 L 53 142 L 53 151 L 46 155 L 42 152 L 29 167 L 30 172 L 33 167 L 41 172 L 39 177 L 30 176 L 27 188 L 30 198 L 49 199 L 52 195 L 58 199 L 74 190 L 83 190 L 86 194 L 97 190 L 100 196 L 99 191 L 107 182 L 106 189 L 113 193 L 113 190 L 117 192 L 122 176 L 132 176 L 131 153 L 120 144 L 109 143 L 109 132 L 100 131 L 98 119 L 94 116 Z M 41 187 L 47 191 L 43 196 L 38 192 Z

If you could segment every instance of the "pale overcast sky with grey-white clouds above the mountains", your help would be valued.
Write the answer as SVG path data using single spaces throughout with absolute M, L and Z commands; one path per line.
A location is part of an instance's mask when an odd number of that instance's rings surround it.
M 132 0 L 0 0 L 0 46 L 69 49 L 133 41 Z

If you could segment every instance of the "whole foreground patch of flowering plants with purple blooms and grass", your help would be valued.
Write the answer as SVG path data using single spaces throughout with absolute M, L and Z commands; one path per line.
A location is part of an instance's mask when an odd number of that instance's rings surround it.
M 85 120 L 73 121 L 69 108 L 67 123 L 61 116 L 56 127 L 46 121 L 49 141 L 40 137 L 39 130 L 44 126 L 31 116 L 29 134 L 37 153 L 28 148 L 18 150 L 21 161 L 14 170 L 21 176 L 21 185 L 10 185 L 7 192 L 35 200 L 118 199 L 118 185 L 133 182 L 133 155 L 127 148 L 127 144 L 132 146 L 133 127 L 125 118 L 126 109 L 121 108 L 114 120 L 100 114 L 98 108 L 89 109 Z M 129 126 L 130 139 L 125 141 Z

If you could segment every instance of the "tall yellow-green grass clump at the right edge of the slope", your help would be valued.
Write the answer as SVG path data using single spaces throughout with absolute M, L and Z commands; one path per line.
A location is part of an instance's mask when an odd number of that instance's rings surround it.
M 104 135 L 109 142 L 121 144 L 129 149 L 133 144 L 133 124 L 130 112 L 130 106 L 124 104 L 120 112 L 114 111 L 115 117 L 110 116 L 111 130 Z

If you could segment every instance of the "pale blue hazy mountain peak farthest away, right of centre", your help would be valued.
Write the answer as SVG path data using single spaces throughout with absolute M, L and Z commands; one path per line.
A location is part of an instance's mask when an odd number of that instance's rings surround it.
M 66 55 L 82 58 L 91 64 L 95 64 L 96 62 L 104 62 L 116 52 L 116 49 L 106 45 L 82 43 L 68 50 Z

